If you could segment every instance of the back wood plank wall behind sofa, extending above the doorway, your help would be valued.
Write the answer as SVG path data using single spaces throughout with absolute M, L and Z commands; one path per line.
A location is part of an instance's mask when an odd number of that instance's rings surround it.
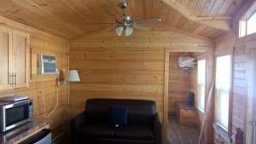
M 162 118 L 164 49 L 206 51 L 212 42 L 172 31 L 134 32 L 131 37 L 108 31 L 71 41 L 70 66 L 82 79 L 73 84 L 73 115 L 84 110 L 87 99 L 104 97 L 153 100 Z

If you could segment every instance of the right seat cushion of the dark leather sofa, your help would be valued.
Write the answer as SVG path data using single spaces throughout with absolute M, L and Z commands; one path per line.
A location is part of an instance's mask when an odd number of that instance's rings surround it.
M 146 125 L 129 125 L 116 128 L 114 136 L 121 139 L 153 140 L 153 131 Z

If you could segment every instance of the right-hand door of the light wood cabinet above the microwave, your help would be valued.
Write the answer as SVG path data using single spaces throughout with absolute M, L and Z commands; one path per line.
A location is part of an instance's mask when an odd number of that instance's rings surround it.
M 28 84 L 28 34 L 26 32 L 13 32 L 13 72 L 15 74 L 15 87 L 26 87 Z

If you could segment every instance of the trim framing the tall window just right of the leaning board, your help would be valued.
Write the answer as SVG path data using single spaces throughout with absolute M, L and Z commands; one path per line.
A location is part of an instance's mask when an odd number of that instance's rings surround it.
M 218 127 L 227 132 L 227 134 L 232 136 L 232 113 L 233 113 L 233 71 L 234 71 L 234 48 L 229 50 L 220 51 L 215 53 L 214 55 L 214 79 L 216 80 L 216 66 L 217 66 L 217 58 L 225 55 L 230 55 L 230 92 L 229 92 L 229 124 L 228 129 L 225 129 L 223 125 L 219 124 L 216 118 L 216 85 L 214 88 L 214 123 L 218 125 Z

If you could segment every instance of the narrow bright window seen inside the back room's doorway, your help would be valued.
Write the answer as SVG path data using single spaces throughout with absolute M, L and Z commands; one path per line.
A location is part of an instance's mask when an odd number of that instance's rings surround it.
M 206 94 L 206 60 L 198 60 L 197 65 L 198 109 L 201 112 L 204 112 Z

